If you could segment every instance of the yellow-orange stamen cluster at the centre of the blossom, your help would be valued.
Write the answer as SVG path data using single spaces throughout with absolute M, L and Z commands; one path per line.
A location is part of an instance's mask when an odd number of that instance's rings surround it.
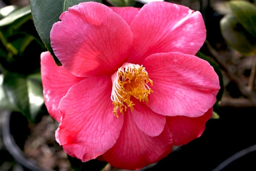
M 133 111 L 134 102 L 131 96 L 140 101 L 148 101 L 148 94 L 153 92 L 147 85 L 148 82 L 153 85 L 153 81 L 148 77 L 148 74 L 142 65 L 133 63 L 124 63 L 118 71 L 112 75 L 112 93 L 111 100 L 114 104 L 113 113 L 118 117 L 117 110 L 120 113 L 126 111 L 129 107 Z

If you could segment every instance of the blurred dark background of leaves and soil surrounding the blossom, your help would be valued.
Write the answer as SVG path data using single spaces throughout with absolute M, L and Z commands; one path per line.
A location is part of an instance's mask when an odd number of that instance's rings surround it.
M 220 72 L 218 98 L 222 98 L 200 138 L 175 147 L 166 158 L 142 170 L 256 170 L 256 15 L 251 12 L 255 1 L 246 1 L 252 9 L 244 6 L 240 18 L 227 5 L 229 1 L 168 2 L 203 14 L 207 39 L 201 57 Z M 113 5 L 114 1 L 104 3 Z M 58 123 L 44 105 L 40 53 L 47 49 L 35 29 L 29 4 L 0 1 L 0 170 L 72 170 L 70 161 L 79 161 L 68 159 L 55 141 Z M 252 23 L 244 22 L 250 15 Z M 96 170 L 94 164 L 80 170 Z M 108 165 L 104 170 L 118 169 Z

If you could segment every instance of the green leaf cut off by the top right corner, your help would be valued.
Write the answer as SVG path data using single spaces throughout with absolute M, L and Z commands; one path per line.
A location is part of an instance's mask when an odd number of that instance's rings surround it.
M 256 37 L 256 6 L 247 1 L 230 1 L 229 6 L 238 22 Z

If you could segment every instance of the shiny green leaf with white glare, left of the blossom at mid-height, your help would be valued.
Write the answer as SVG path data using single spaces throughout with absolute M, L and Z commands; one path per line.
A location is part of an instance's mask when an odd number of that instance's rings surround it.
M 34 122 L 44 104 L 40 74 L 24 77 L 7 72 L 3 81 L 3 90 L 5 95 L 2 97 L 3 100 L 10 103 L 7 107 L 11 106 L 13 111 L 23 113 Z

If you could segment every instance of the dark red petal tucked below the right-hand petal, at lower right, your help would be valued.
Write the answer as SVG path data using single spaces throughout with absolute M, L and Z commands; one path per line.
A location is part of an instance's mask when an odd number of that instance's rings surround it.
M 173 135 L 174 145 L 186 144 L 202 135 L 205 123 L 212 116 L 212 108 L 196 118 L 186 116 L 167 117 L 167 124 Z

